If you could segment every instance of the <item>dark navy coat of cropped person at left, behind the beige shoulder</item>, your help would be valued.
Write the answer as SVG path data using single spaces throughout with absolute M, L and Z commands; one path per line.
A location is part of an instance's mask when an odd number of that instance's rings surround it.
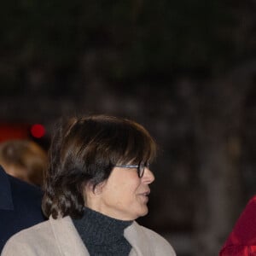
M 9 175 L 0 166 L 0 252 L 10 236 L 46 219 L 42 197 L 37 186 Z

